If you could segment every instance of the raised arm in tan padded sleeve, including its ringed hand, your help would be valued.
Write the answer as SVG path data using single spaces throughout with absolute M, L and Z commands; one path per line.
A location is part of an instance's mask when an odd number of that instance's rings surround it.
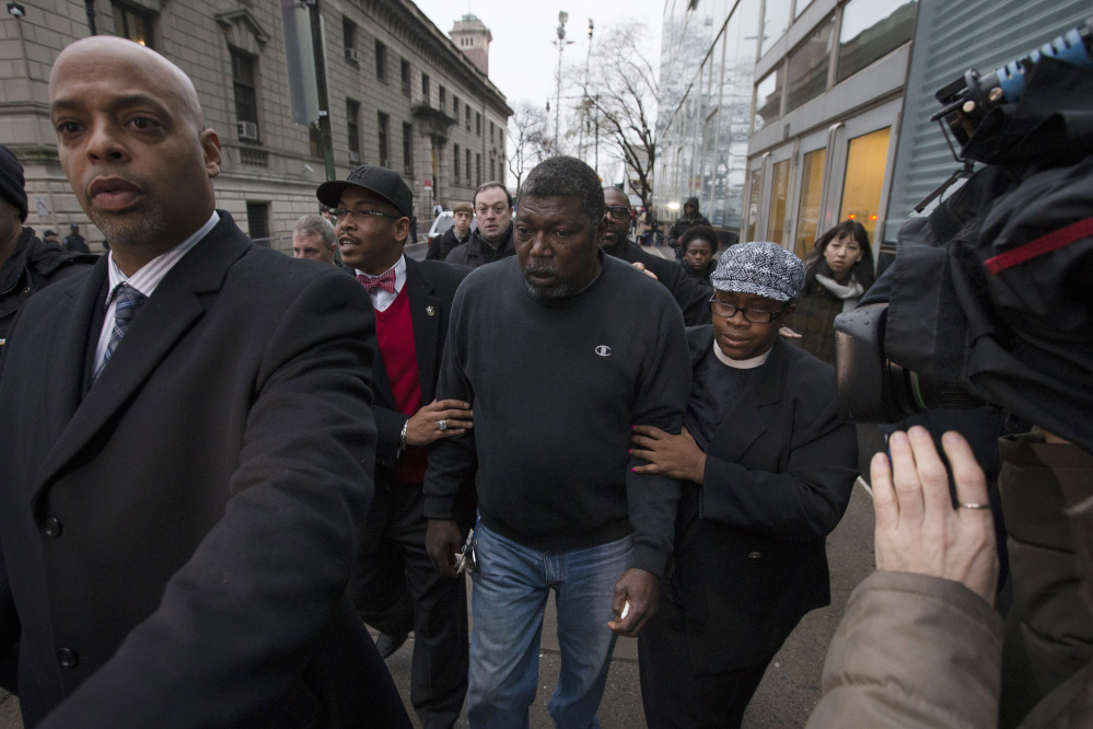
M 986 505 L 972 449 L 942 439 L 962 505 Z M 953 509 L 949 479 L 923 428 L 873 458 L 876 564 L 850 595 L 824 664 L 809 727 L 995 727 L 1002 620 L 990 510 Z

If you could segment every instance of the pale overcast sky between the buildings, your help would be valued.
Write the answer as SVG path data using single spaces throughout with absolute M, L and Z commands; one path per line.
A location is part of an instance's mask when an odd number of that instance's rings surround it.
M 464 13 L 477 15 L 490 30 L 493 42 L 489 53 L 489 78 L 501 90 L 509 104 L 527 100 L 546 105 L 555 96 L 555 72 L 558 68 L 558 11 L 569 13 L 566 23 L 563 63 L 583 63 L 589 51 L 589 18 L 595 22 L 593 43 L 601 28 L 613 21 L 636 18 L 649 32 L 647 58 L 659 58 L 661 15 L 664 0 L 414 0 L 444 33 Z M 659 66 L 659 63 L 654 63 Z M 554 101 L 550 102 L 554 108 Z

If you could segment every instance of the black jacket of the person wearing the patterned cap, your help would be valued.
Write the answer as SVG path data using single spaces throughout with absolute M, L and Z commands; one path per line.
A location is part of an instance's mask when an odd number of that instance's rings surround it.
M 713 327 L 687 339 L 697 366 Z M 770 658 L 801 616 L 830 602 L 825 537 L 857 464 L 854 428 L 836 419 L 835 371 L 779 339 L 714 432 L 705 484 L 684 484 L 664 604 L 693 672 Z

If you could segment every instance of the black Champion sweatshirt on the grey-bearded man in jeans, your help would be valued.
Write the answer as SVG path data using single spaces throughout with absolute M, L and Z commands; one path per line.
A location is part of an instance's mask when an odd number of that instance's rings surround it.
M 452 308 L 437 397 L 472 403 L 475 427 L 429 452 L 426 516 L 447 519 L 478 463 L 482 523 L 532 548 L 635 534 L 633 566 L 662 575 L 679 486 L 639 475 L 630 426 L 679 432 L 690 361 L 668 291 L 601 255 L 600 277 L 560 301 L 532 296 L 516 258 L 475 269 Z

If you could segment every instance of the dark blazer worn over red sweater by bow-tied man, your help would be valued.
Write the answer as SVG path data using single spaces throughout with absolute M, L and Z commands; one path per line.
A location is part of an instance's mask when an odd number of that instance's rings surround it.
M 406 293 L 409 297 L 410 319 L 414 322 L 414 350 L 418 360 L 418 379 L 421 383 L 421 404 L 428 405 L 437 396 L 437 378 L 440 358 L 447 339 L 447 322 L 452 313 L 452 299 L 455 290 L 467 274 L 468 266 L 442 263 L 440 261 L 414 261 L 406 256 Z M 372 382 L 375 391 L 375 425 L 379 432 L 376 443 L 376 495 L 369 511 L 370 535 L 365 548 L 373 546 L 382 534 L 387 520 L 389 493 L 394 487 L 395 451 L 398 436 L 408 417 L 395 409 L 395 396 L 384 367 L 382 355 L 372 362 Z M 470 501 L 468 504 L 468 500 Z M 468 518 L 474 513 L 477 499 L 474 498 L 472 482 L 461 489 L 461 508 L 456 521 L 466 531 Z M 468 513 L 469 512 L 469 513 Z

